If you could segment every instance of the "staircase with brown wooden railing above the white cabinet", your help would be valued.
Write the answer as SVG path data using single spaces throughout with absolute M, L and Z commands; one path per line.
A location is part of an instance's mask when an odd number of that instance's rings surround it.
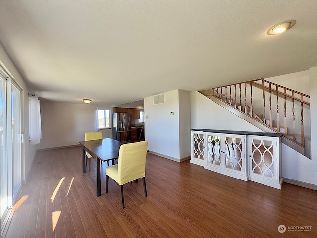
M 264 79 L 199 92 L 264 132 L 282 133 L 284 144 L 311 158 L 309 95 Z

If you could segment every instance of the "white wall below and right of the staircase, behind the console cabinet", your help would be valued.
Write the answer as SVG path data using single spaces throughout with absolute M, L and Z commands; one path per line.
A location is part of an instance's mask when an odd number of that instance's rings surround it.
M 310 160 L 282 144 L 282 176 L 288 181 L 303 182 L 302 185 L 304 183 L 317 185 L 317 67 L 311 68 L 309 72 L 312 159 Z M 296 81 L 297 84 L 301 84 L 301 78 L 306 75 L 306 71 L 298 73 L 298 75 L 300 75 L 299 79 L 294 80 L 293 83 Z M 191 128 L 261 132 L 255 126 L 196 91 L 191 92 Z

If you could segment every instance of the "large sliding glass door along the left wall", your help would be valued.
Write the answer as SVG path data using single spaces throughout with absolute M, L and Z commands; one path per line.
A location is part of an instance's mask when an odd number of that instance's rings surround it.
M 0 70 L 1 234 L 22 185 L 21 89 Z

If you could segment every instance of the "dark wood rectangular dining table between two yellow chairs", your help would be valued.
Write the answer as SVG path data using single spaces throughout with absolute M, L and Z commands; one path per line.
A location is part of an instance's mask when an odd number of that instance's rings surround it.
M 86 173 L 86 152 L 88 152 L 96 161 L 96 190 L 97 197 L 101 195 L 101 168 L 100 162 L 117 159 L 119 156 L 119 149 L 124 142 L 104 138 L 102 140 L 80 141 L 82 146 L 82 166 L 83 173 Z

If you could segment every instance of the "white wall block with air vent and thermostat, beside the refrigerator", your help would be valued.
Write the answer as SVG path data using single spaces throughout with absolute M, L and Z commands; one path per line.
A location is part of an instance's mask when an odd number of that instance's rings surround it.
M 189 92 L 182 90 L 166 92 L 163 104 L 153 105 L 153 96 L 144 99 L 145 140 L 151 152 L 175 160 L 190 155 L 189 102 Z

